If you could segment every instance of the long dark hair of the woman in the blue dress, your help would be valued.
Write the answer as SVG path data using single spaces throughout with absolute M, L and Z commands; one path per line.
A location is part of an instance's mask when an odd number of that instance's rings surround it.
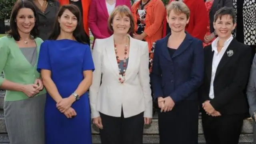
M 90 44 L 90 39 L 84 31 L 84 26 L 83 26 L 83 21 L 82 21 L 82 16 L 81 16 L 80 10 L 74 4 L 68 4 L 68 5 L 64 5 L 64 6 L 60 7 L 60 10 L 58 11 L 58 14 L 56 16 L 52 34 L 50 34 L 49 39 L 56 40 L 58 38 L 58 36 L 60 35 L 60 23 L 58 22 L 58 18 L 60 18 L 62 16 L 62 14 L 64 13 L 65 10 L 69 10 L 77 18 L 77 26 L 73 32 L 73 36 L 76 38 L 76 40 L 78 42 L 81 42 L 84 44 Z

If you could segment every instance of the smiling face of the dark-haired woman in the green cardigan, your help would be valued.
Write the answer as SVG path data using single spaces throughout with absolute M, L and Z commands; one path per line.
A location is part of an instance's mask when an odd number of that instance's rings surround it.
M 19 33 L 28 34 L 35 26 L 35 16 L 30 8 L 21 8 L 16 16 L 16 24 Z

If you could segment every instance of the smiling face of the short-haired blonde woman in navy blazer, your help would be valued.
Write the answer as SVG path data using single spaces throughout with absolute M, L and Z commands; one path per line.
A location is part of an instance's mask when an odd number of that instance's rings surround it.
M 174 10 L 171 10 L 169 16 L 166 18 L 172 32 L 184 32 L 186 24 L 189 22 L 186 14 L 177 13 Z

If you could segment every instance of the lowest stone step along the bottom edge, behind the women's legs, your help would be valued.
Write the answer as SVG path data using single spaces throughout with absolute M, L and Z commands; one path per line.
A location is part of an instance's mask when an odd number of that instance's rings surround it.
M 92 143 L 100 144 L 100 136 L 92 135 Z M 198 144 L 205 144 L 204 135 L 198 135 Z M 240 136 L 239 144 L 252 144 L 253 143 L 253 135 L 252 134 L 244 134 Z M 0 144 L 10 144 L 10 140 L 7 134 L 0 134 Z M 144 135 L 143 136 L 143 144 L 159 144 L 159 136 L 158 135 Z

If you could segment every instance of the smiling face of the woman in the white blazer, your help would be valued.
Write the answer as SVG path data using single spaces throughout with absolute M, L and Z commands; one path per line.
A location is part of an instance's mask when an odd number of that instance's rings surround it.
M 116 14 L 111 26 L 115 34 L 127 34 L 131 27 L 130 18 L 126 15 Z

